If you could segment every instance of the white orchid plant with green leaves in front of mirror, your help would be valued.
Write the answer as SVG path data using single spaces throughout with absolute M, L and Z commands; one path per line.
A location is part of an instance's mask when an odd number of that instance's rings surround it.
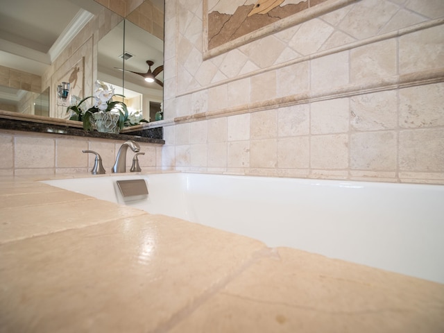
M 68 107 L 67 111 L 74 111 L 75 114 L 71 116 L 70 120 L 83 121 L 84 130 L 92 130 L 92 123 L 90 121 L 93 114 L 96 112 L 114 112 L 119 114 L 119 128 L 122 129 L 125 121 L 128 119 L 128 109 L 126 104 L 121 101 L 112 101 L 112 97 L 121 96 L 121 94 L 114 94 L 114 88 L 112 86 L 108 87 L 105 83 L 100 80 L 96 80 L 93 96 L 87 96 L 80 102 Z M 94 98 L 94 105 L 83 112 L 81 107 L 82 103 L 87 99 Z

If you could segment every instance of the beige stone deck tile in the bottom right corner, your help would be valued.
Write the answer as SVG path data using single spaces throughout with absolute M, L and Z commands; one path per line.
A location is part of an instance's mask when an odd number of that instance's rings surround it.
M 442 332 L 444 286 L 278 248 L 171 330 Z

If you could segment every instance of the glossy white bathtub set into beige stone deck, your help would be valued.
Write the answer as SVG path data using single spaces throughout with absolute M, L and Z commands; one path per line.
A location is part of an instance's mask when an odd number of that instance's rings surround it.
M 48 180 L 123 203 L 115 181 L 144 178 L 153 214 L 444 283 L 444 186 L 198 173 Z M 186 237 L 186 235 L 184 235 Z

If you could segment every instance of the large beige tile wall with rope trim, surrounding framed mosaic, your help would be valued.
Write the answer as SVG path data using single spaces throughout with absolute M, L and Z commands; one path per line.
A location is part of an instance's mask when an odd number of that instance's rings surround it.
M 444 2 L 360 0 L 203 60 L 166 1 L 162 166 L 444 183 Z

